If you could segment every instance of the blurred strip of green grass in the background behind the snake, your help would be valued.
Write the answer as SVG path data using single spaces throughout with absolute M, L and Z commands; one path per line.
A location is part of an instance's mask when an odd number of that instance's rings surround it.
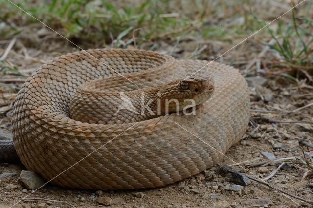
M 241 2 L 220 2 L 218 0 L 142 0 L 115 3 L 108 0 L 42 0 L 32 3 L 19 0 L 17 5 L 37 19 L 60 32 L 67 38 L 78 38 L 92 42 L 118 41 L 115 47 L 127 44 L 141 44 L 158 38 L 181 36 L 188 31 L 190 35 L 202 38 L 231 40 L 232 35 L 245 33 L 241 24 L 228 28 L 226 22 L 244 16 L 234 10 Z M 132 3 L 133 2 L 133 3 Z M 248 1 L 246 1 L 248 2 Z M 38 24 L 37 20 L 26 15 L 13 4 L 0 0 L 0 35 L 11 37 L 22 31 L 21 27 Z M 235 13 L 234 13 L 235 12 Z M 230 15 L 230 13 L 234 13 Z M 228 17 L 229 16 L 229 17 Z M 125 43 L 121 44 L 121 39 Z M 128 42 L 127 42 L 128 41 Z M 125 46 L 126 45 L 126 46 Z

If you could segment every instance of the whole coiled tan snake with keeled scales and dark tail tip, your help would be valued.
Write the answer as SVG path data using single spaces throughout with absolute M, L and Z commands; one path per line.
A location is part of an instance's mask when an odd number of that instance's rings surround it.
M 156 112 L 164 97 L 179 100 L 176 112 L 164 105 Z M 195 103 L 184 112 L 186 97 Z M 136 112 L 142 105 L 150 115 Z M 13 106 L 13 141 L 0 141 L 0 155 L 4 146 L 16 151 L 28 170 L 61 187 L 162 187 L 221 162 L 246 132 L 249 109 L 247 83 L 232 66 L 139 49 L 83 50 L 26 80 Z

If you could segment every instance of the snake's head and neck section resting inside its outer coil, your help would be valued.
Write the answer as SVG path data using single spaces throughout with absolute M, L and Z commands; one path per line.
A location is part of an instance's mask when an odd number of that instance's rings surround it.
M 125 92 L 102 89 L 105 83 L 106 79 L 97 79 L 74 91 L 69 106 L 72 119 L 95 124 L 138 122 L 203 104 L 214 92 L 213 81 L 198 76 Z

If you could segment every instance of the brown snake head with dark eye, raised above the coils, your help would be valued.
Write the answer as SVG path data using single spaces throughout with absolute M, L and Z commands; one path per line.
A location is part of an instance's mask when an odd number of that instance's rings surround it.
M 164 85 L 158 93 L 161 113 L 182 111 L 203 104 L 214 93 L 214 81 L 207 76 L 190 76 Z M 179 106 L 179 107 L 178 107 Z M 179 109 L 178 109 L 179 108 Z

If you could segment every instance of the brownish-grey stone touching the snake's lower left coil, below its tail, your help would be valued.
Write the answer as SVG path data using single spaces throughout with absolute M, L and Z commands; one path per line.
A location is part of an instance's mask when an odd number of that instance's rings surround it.
M 38 189 L 45 184 L 45 181 L 33 171 L 22 170 L 20 179 L 27 189 Z

